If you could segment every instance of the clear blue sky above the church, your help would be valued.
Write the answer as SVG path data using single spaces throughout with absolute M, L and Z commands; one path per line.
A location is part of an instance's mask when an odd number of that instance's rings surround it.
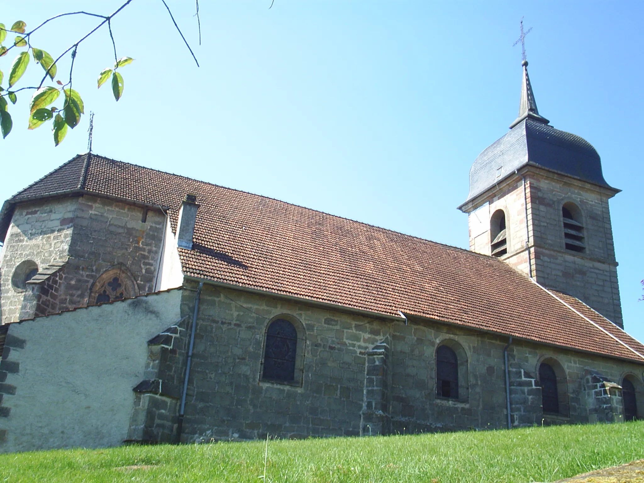
M 0 23 L 120 3 L 0 0 Z M 95 153 L 459 247 L 469 167 L 516 117 L 525 17 L 540 113 L 591 142 L 623 190 L 611 200 L 621 300 L 644 339 L 643 3 L 202 0 L 201 46 L 194 3 L 167 3 L 200 68 L 160 1 L 134 0 L 113 21 L 118 57 L 136 59 L 118 103 L 109 82 L 96 88 L 113 63 L 107 30 L 79 46 L 73 86 L 96 115 Z M 32 44 L 54 55 L 95 23 L 63 19 Z M 19 85 L 41 75 L 32 62 Z M 3 200 L 86 151 L 87 116 L 54 147 L 47 125 L 27 131 L 29 97 L 0 141 Z

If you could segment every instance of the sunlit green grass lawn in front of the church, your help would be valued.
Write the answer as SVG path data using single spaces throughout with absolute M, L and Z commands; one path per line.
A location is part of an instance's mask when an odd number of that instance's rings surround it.
M 261 482 L 265 442 L 0 455 L 0 482 Z M 550 482 L 644 458 L 644 422 L 270 440 L 268 482 Z M 134 468 L 128 468 L 134 467 Z

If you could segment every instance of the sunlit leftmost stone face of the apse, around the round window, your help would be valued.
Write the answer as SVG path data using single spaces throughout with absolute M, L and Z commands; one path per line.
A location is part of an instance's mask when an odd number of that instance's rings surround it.
M 12 276 L 19 263 L 32 260 L 42 269 L 53 261 L 67 260 L 77 202 L 78 198 L 62 198 L 26 203 L 15 209 L 0 260 L 2 323 L 21 318 L 23 301 L 32 302 L 30 290 L 16 289 L 12 285 Z M 22 315 L 32 317 L 33 313 Z

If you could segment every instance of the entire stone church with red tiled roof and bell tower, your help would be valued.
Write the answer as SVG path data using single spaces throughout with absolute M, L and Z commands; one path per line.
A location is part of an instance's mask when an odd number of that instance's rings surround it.
M 519 115 L 469 251 L 75 156 L 0 211 L 0 452 L 644 417 L 589 142 Z

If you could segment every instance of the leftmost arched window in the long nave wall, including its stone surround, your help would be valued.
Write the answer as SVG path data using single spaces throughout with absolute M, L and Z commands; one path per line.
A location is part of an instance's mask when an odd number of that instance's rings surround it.
M 272 319 L 266 329 L 261 380 L 301 385 L 305 345 L 304 328 L 297 319 Z

